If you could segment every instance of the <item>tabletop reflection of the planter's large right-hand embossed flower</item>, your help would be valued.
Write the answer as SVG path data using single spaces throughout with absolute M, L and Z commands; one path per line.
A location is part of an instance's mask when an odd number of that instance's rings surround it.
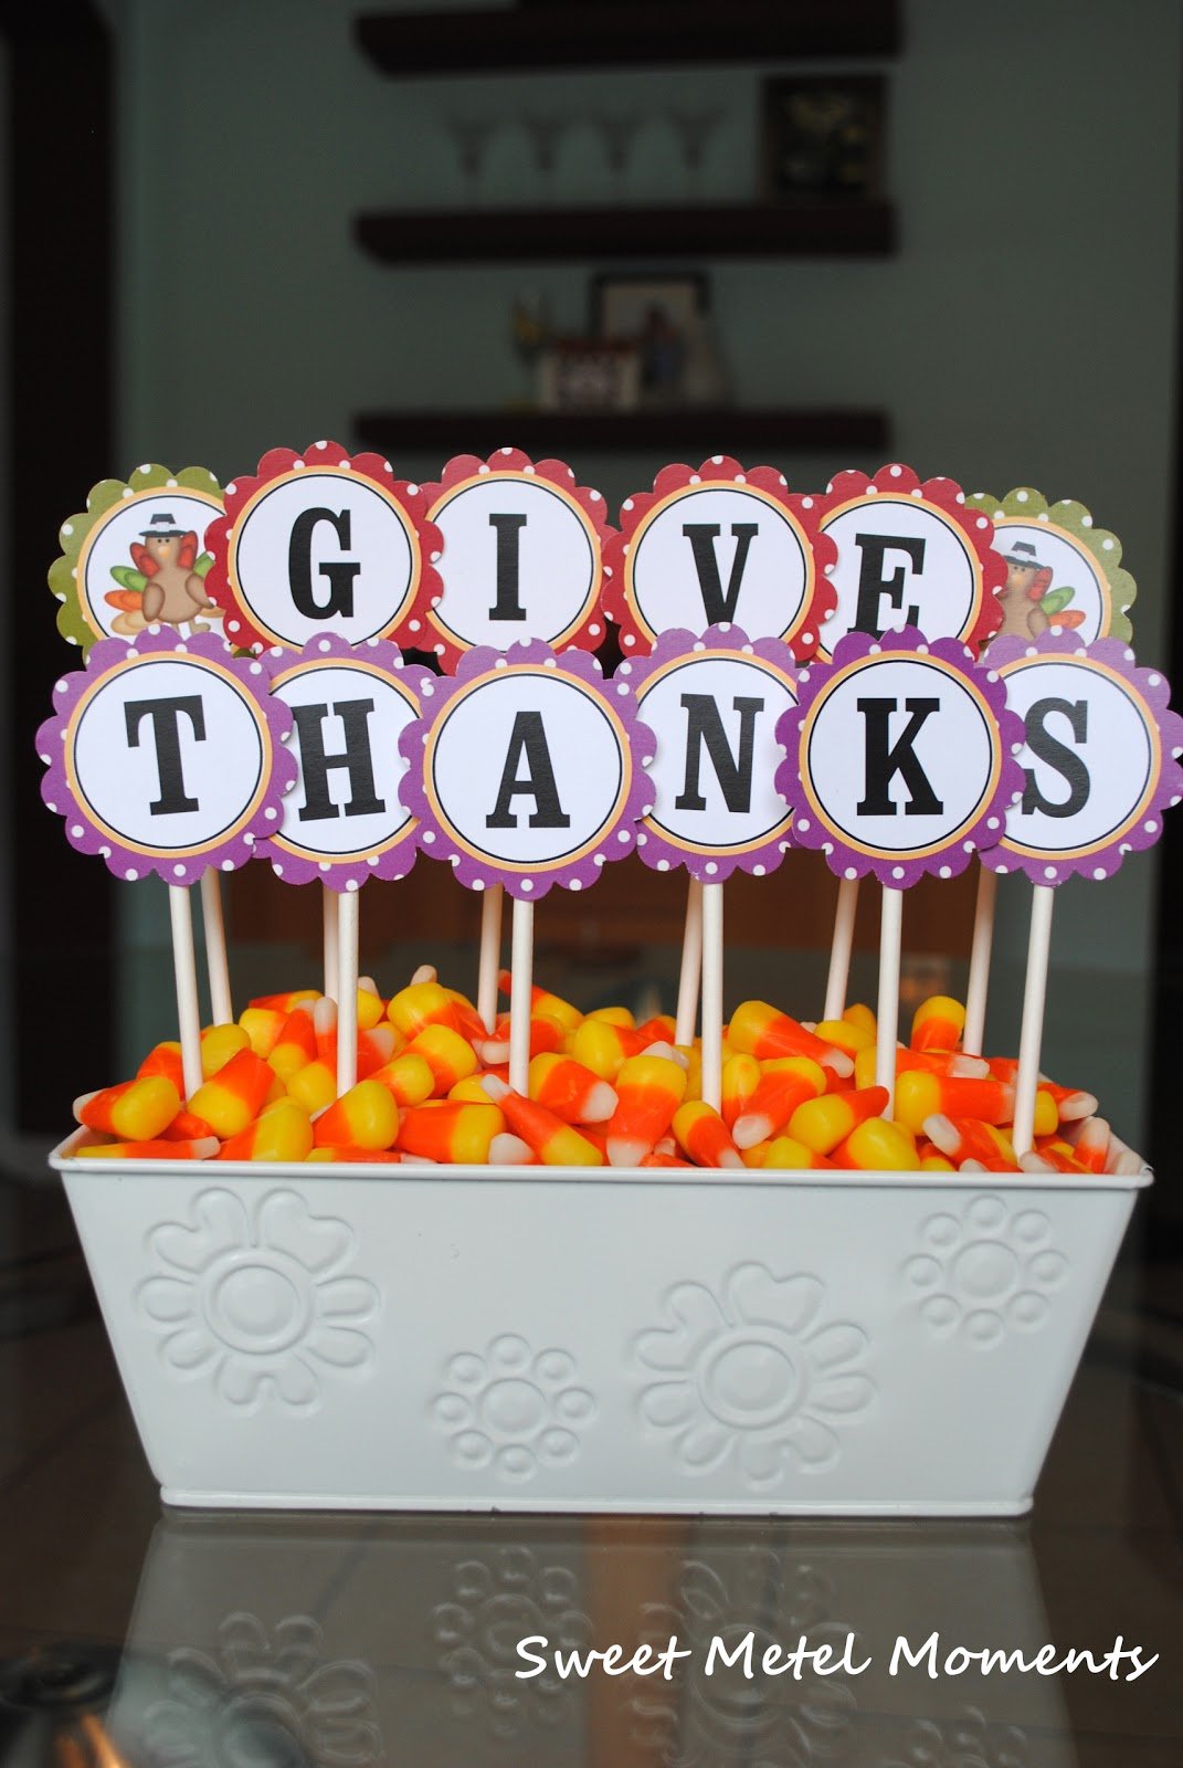
M 661 1650 L 672 1634 L 690 1657 L 667 1683 L 638 1678 L 626 1696 L 631 1731 L 663 1768 L 714 1768 L 744 1761 L 752 1768 L 805 1768 L 849 1759 L 856 1701 L 838 1676 L 803 1681 L 762 1669 L 771 1646 L 782 1650 L 808 1634 L 810 1650 L 829 1644 L 838 1657 L 856 1628 L 833 1616 L 829 1577 L 808 1561 L 767 1549 L 720 1549 L 683 1561 L 668 1604 L 647 1604 L 642 1641 Z M 752 1634 L 750 1664 L 744 1641 Z M 720 1641 L 711 1674 L 711 1644 Z M 856 1651 L 856 1658 L 866 1653 Z

